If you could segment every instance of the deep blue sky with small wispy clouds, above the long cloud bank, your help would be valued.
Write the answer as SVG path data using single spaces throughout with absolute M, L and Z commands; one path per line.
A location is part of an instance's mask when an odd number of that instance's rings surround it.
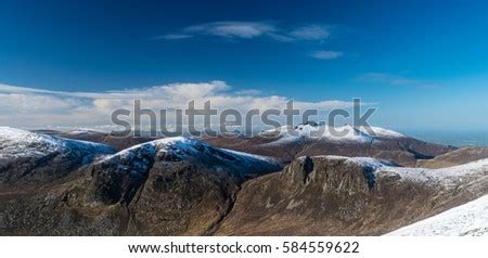
M 48 100 L 60 121 L 46 125 L 61 125 L 60 108 L 101 102 L 42 99 L 52 92 L 218 80 L 227 95 L 361 98 L 384 127 L 485 129 L 487 12 L 486 1 L 2 0 L 0 121 L 29 126 L 28 103 Z

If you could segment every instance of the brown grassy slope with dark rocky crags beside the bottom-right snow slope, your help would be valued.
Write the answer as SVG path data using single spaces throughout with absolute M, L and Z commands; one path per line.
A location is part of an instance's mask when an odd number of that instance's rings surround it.
M 488 159 L 449 169 L 300 157 L 243 184 L 220 235 L 377 235 L 488 193 Z

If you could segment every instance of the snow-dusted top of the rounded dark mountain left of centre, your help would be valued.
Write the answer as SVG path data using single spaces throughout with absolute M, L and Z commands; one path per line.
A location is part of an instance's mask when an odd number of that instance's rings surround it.
M 194 171 L 202 178 L 229 178 L 235 184 L 281 170 L 273 158 L 228 151 L 193 138 L 176 137 L 142 143 L 93 163 L 89 186 L 93 203 L 129 202 L 150 175 Z M 193 176 L 189 176 L 193 177 Z M 184 178 L 184 177 L 183 177 Z

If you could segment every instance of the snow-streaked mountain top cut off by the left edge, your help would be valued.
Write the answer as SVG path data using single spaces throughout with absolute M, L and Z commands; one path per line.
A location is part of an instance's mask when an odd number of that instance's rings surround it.
M 114 152 L 104 144 L 0 127 L 0 182 L 50 181 Z

